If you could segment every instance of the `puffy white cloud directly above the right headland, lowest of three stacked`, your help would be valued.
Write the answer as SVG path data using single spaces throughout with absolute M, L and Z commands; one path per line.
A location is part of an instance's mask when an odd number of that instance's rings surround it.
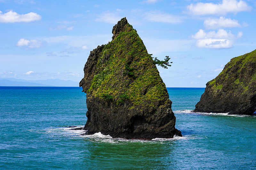
M 200 48 L 231 48 L 237 38 L 240 38 L 242 33 L 237 36 L 230 31 L 219 29 L 217 32 L 210 31 L 206 33 L 200 29 L 192 38 L 197 39 L 196 46 Z

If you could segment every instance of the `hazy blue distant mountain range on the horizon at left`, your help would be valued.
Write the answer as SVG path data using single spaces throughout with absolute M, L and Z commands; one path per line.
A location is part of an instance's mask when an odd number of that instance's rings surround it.
M 60 86 L 78 87 L 79 82 L 71 80 L 47 79 L 47 80 L 23 80 L 17 78 L 0 78 L 0 86 Z

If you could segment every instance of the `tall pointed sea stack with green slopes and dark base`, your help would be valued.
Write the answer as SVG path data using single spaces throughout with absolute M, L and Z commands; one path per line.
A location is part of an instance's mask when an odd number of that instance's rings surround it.
M 172 101 L 137 31 L 122 18 L 112 41 L 91 51 L 80 87 L 86 93 L 87 134 L 126 139 L 172 138 Z

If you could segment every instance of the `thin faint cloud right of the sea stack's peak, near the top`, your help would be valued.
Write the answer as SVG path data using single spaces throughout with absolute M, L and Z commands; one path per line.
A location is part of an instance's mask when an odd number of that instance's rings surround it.
M 160 11 L 149 11 L 146 14 L 146 19 L 148 21 L 155 21 L 155 22 L 163 22 L 163 23 L 181 23 L 182 20 L 179 16 L 161 13 Z

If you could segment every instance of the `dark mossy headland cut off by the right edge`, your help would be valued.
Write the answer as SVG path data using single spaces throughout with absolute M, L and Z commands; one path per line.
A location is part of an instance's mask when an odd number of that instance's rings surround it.
M 206 84 L 195 112 L 252 115 L 256 110 L 256 50 L 232 58 Z

